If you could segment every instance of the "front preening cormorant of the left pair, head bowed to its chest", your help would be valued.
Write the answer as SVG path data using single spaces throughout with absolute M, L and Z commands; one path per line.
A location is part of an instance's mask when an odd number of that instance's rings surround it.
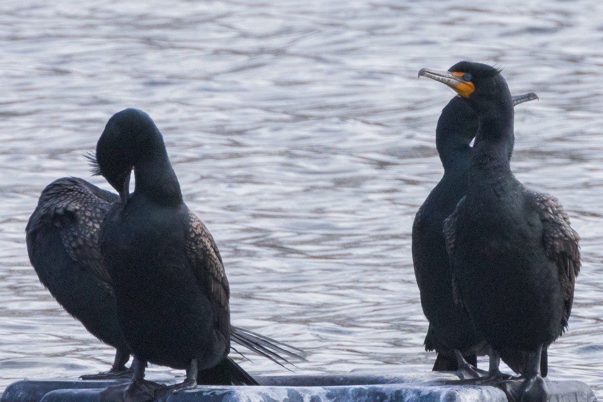
M 134 355 L 124 400 L 153 398 L 147 362 L 186 369 L 178 388 L 194 387 L 198 371 L 228 359 L 230 350 L 230 291 L 218 248 L 183 202 L 163 137 L 146 113 L 113 115 L 96 161 L 121 198 L 107 213 L 100 245 Z M 129 194 L 132 170 L 136 187 Z M 255 383 L 246 377 L 237 382 Z

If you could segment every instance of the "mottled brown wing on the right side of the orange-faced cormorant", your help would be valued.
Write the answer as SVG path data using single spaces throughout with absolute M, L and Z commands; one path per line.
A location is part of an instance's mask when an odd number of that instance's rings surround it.
M 559 278 L 565 291 L 565 314 L 563 327 L 567 327 L 573 304 L 573 289 L 580 272 L 580 236 L 572 229 L 569 216 L 557 201 L 557 198 L 528 190 L 535 200 L 543 222 L 542 240 L 549 258 L 559 270 Z

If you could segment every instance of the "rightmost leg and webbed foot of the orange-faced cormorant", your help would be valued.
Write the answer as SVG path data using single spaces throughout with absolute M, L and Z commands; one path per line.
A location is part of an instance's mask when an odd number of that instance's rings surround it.
M 500 388 L 507 394 L 509 402 L 546 402 L 546 382 L 540 375 L 542 345 L 527 353 L 528 361 L 523 374 L 518 378 L 503 381 Z

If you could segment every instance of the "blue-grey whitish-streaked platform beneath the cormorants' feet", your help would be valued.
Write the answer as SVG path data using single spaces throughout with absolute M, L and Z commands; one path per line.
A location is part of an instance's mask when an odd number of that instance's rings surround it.
M 148 379 L 176 383 L 178 378 Z M 490 386 L 444 385 L 452 373 L 409 375 L 325 374 L 256 377 L 260 386 L 199 386 L 162 398 L 165 402 L 507 402 Z M 99 392 L 116 381 L 36 381 L 11 384 L 0 402 L 99 402 Z M 596 402 L 586 384 L 547 381 L 550 402 Z

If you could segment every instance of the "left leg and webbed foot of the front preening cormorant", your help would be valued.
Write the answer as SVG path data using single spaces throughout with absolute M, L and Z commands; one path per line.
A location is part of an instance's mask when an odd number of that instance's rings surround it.
M 165 386 L 145 380 L 146 360 L 134 356 L 132 379 L 129 383 L 110 386 L 101 391 L 101 402 L 147 402 L 155 398 L 155 391 Z

